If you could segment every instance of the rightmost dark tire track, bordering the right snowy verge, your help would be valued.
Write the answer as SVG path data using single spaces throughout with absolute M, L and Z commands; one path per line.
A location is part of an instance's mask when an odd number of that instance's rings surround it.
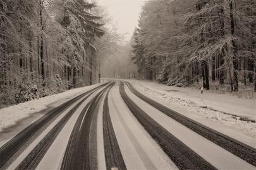
M 144 96 L 143 94 L 139 93 L 135 88 L 133 88 L 130 82 L 126 82 L 126 85 L 131 90 L 131 92 L 135 94 L 138 98 L 142 99 L 146 103 L 149 103 L 149 105 L 155 107 L 157 110 L 166 114 L 170 118 L 173 118 L 173 120 L 176 120 L 185 127 L 188 127 L 194 132 L 198 133 L 202 137 L 205 137 L 205 139 L 214 142 L 214 144 L 219 145 L 220 147 L 228 150 L 235 156 L 238 156 L 241 159 L 252 164 L 253 166 L 256 166 L 255 148 L 243 144 L 242 142 L 235 140 L 231 137 L 228 137 L 227 135 L 224 135 L 220 132 L 217 132 L 212 128 L 206 127 L 205 125 L 202 125 L 201 123 L 198 123 L 195 120 L 192 120 L 184 115 L 181 115 L 180 113 L 177 113 L 176 111 L 173 111 L 170 108 L 163 106 L 150 98 L 147 98 L 147 96 Z

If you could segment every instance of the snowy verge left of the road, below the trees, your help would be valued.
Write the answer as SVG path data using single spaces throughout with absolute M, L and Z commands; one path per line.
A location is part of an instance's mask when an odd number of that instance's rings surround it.
M 47 109 L 49 105 L 52 105 L 53 103 L 56 106 L 61 105 L 65 101 L 68 101 L 68 99 L 74 98 L 75 96 L 99 85 L 101 84 L 71 89 L 63 93 L 46 96 L 45 98 L 35 99 L 18 105 L 2 108 L 0 110 L 0 132 L 3 131 L 4 128 L 15 125 L 19 120 L 29 117 L 32 113 L 38 113 Z

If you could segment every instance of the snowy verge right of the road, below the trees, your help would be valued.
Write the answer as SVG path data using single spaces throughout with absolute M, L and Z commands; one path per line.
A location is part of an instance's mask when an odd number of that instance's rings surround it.
M 230 94 L 216 94 L 195 88 L 178 88 L 152 81 L 130 80 L 138 91 L 179 106 L 189 113 L 207 118 L 219 125 L 256 138 L 256 100 L 241 99 Z M 251 120 L 251 121 L 247 121 Z

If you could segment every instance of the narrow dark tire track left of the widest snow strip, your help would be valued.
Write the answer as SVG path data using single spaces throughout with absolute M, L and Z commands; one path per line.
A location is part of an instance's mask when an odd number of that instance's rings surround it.
M 119 149 L 118 140 L 116 139 L 111 117 L 109 115 L 109 91 L 110 89 L 107 91 L 103 105 L 103 138 L 106 167 L 107 170 L 111 170 L 112 167 L 126 170 L 125 161 L 123 160 L 121 150 Z

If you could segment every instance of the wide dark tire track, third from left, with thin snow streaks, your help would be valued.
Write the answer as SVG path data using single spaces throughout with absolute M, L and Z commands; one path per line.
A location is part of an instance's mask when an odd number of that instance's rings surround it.
M 109 86 L 113 86 L 113 83 Z M 97 169 L 97 162 L 90 161 L 90 127 L 97 103 L 109 86 L 98 93 L 79 115 L 68 141 L 61 169 Z M 93 154 L 97 154 L 97 150 L 94 150 Z

